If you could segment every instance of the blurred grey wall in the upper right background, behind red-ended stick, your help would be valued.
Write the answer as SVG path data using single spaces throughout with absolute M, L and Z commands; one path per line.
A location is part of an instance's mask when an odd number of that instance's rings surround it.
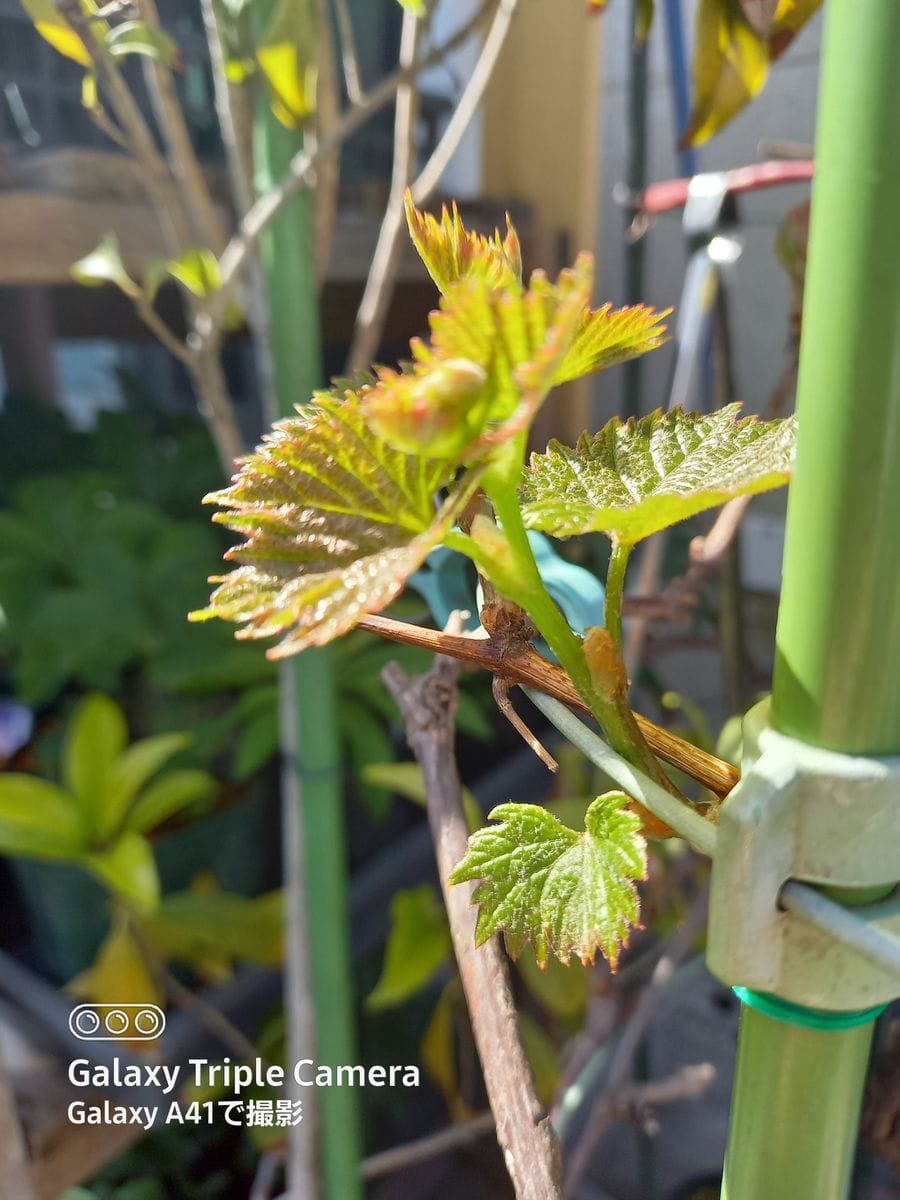
M 688 46 L 692 42 L 695 0 L 683 0 Z M 628 128 L 628 0 L 612 0 L 604 29 L 600 238 L 598 295 L 623 300 L 623 215 L 612 199 L 624 179 Z M 698 151 L 702 170 L 718 170 L 758 161 L 760 138 L 811 143 L 815 128 L 816 82 L 821 13 L 774 66 L 762 94 L 721 133 Z M 661 5 L 650 34 L 648 95 L 648 179 L 680 174 L 676 152 L 673 102 L 668 77 L 665 22 Z M 809 193 L 806 186 L 776 188 L 742 198 L 745 251 L 731 271 L 731 310 L 738 396 L 749 410 L 764 408 L 782 366 L 787 338 L 790 295 L 787 278 L 775 262 L 776 227 L 793 204 Z M 647 235 L 643 299 L 659 307 L 678 304 L 685 252 L 678 218 L 664 217 Z M 642 409 L 665 404 L 671 348 L 652 354 L 643 374 Z M 595 392 L 598 422 L 619 410 L 622 368 L 600 378 Z

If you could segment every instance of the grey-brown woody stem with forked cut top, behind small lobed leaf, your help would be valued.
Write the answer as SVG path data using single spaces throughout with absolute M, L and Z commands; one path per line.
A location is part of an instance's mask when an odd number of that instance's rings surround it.
M 562 1200 L 559 1147 L 550 1122 L 541 1118 L 503 948 L 497 937 L 475 947 L 474 886 L 448 883 L 468 842 L 454 748 L 457 674 L 456 662 L 438 658 L 416 679 L 397 664 L 385 667 L 383 678 L 422 769 L 454 949 L 506 1169 L 517 1200 Z

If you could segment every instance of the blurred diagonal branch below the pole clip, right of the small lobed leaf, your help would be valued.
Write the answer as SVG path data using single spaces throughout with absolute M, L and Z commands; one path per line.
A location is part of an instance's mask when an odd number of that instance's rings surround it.
M 575 1195 L 578 1181 L 590 1162 L 594 1148 L 608 1126 L 616 1120 L 617 1099 L 628 1085 L 634 1069 L 635 1056 L 641 1048 L 650 1021 L 659 1008 L 677 967 L 688 958 L 697 934 L 707 919 L 708 890 L 704 887 L 691 905 L 688 916 L 668 943 L 664 956 L 650 976 L 650 982 L 641 994 L 637 1008 L 631 1015 L 610 1062 L 604 1090 L 595 1097 L 583 1133 L 576 1142 L 565 1169 L 565 1190 Z

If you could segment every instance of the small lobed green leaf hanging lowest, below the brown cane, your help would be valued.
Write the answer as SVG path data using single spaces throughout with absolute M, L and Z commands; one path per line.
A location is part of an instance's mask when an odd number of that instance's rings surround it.
M 541 966 L 551 953 L 588 964 L 600 950 L 616 970 L 637 922 L 634 881 L 647 874 L 641 818 L 629 803 L 624 792 L 598 797 L 581 834 L 534 804 L 494 809 L 490 816 L 500 824 L 469 838 L 450 876 L 451 883 L 482 881 L 473 894 L 476 943 L 502 929 L 512 958 L 530 942 Z

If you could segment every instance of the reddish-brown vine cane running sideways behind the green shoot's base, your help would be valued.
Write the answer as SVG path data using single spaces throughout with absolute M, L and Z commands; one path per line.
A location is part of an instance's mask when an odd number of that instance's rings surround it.
M 554 662 L 548 662 L 534 649 L 504 654 L 497 642 L 486 637 L 455 637 L 434 629 L 392 620 L 390 617 L 364 617 L 360 628 L 391 642 L 424 647 L 437 654 L 449 654 L 472 666 L 500 674 L 512 683 L 544 691 L 583 715 L 590 716 L 587 704 L 565 671 Z M 715 796 L 727 796 L 740 779 L 740 773 L 731 763 L 700 750 L 671 730 L 664 730 L 640 713 L 635 713 L 635 720 L 654 754 L 691 779 L 696 779 Z

